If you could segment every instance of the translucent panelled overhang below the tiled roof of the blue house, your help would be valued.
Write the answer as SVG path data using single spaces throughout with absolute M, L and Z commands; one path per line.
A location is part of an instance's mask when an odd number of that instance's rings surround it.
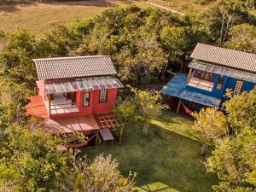
M 201 61 L 192 61 L 189 63 L 190 68 L 195 68 L 204 72 L 217 73 L 221 76 L 226 76 L 235 79 L 241 79 L 249 82 L 256 83 L 256 74 L 248 73 L 238 69 L 232 69 L 228 67 L 221 67 L 210 63 Z

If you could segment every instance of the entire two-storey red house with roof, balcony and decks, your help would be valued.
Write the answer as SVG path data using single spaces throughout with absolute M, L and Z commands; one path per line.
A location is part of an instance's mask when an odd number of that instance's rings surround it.
M 45 129 L 54 133 L 80 131 L 88 136 L 97 136 L 100 130 L 104 137 L 106 130 L 101 129 L 118 124 L 110 112 L 118 89 L 124 86 L 114 77 L 116 70 L 109 56 L 33 61 L 38 73 L 38 96 L 30 98 L 26 113 L 44 119 Z

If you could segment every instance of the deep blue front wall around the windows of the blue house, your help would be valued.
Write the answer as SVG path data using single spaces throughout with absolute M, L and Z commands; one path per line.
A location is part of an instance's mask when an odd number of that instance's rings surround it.
M 212 77 L 212 82 L 213 82 L 213 89 L 212 89 L 212 91 L 201 90 L 199 88 L 191 87 L 188 84 L 186 85 L 186 88 L 188 90 L 193 90 L 195 92 L 199 92 L 199 93 L 205 94 L 207 96 L 214 96 L 214 97 L 224 101 L 225 100 L 225 98 L 224 98 L 225 91 L 227 89 L 234 90 L 234 88 L 236 86 L 236 79 L 230 78 L 230 77 L 224 77 L 224 83 L 222 85 L 221 90 L 217 90 L 216 89 L 216 85 L 217 85 L 218 77 L 220 77 L 219 74 L 214 74 L 213 77 Z M 243 82 L 244 83 L 242 85 L 241 90 L 245 90 L 245 91 L 253 90 L 254 84 L 252 82 L 247 82 L 247 81 L 243 81 Z

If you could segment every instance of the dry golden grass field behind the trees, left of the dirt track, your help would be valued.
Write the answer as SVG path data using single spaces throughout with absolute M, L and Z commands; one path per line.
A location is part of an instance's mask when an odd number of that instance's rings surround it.
M 137 0 L 103 0 L 70 3 L 34 3 L 0 5 L 0 30 L 14 31 L 21 27 L 35 35 L 49 32 L 54 26 L 67 26 L 73 20 L 84 20 L 100 14 L 105 9 L 121 8 L 136 4 L 149 5 Z

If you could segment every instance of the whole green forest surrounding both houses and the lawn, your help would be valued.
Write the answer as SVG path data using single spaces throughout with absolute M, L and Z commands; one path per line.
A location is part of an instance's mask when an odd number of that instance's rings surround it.
M 37 126 L 36 120 L 25 119 L 27 98 L 37 91 L 32 59 L 110 55 L 124 84 L 146 87 L 164 84 L 172 73 L 187 71 L 189 55 L 198 42 L 256 54 L 256 18 L 249 13 L 254 1 L 204 3 L 205 9 L 191 15 L 137 6 L 108 9 L 89 20 L 56 26 L 40 38 L 24 29 L 0 32 L 0 191 L 102 191 L 102 186 L 105 191 L 133 191 L 135 175 L 123 177 L 110 156 L 100 155 L 89 165 L 72 152 L 55 153 L 61 142 L 58 138 L 29 131 Z M 138 95 L 132 99 L 143 101 Z M 255 96 L 255 89 L 234 96 L 225 105 L 228 117 L 215 109 L 194 114 L 195 131 L 202 136 L 207 125 L 212 125 L 207 127 L 211 130 L 223 128 L 212 131 L 209 141 L 203 137 L 201 141 L 214 143 L 206 165 L 208 172 L 218 176 L 215 191 L 255 191 Z M 120 105 L 122 113 L 135 113 L 127 111 L 127 102 Z M 207 115 L 219 121 L 209 121 Z

